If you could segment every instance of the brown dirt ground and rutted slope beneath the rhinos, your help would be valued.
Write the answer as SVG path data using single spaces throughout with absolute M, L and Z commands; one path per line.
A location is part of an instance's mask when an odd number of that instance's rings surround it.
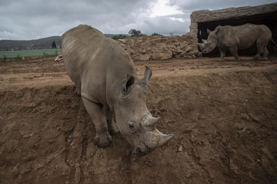
M 98 147 L 63 63 L 0 63 L 0 183 L 277 183 L 277 57 L 135 62 L 147 107 L 175 137 L 138 157 Z

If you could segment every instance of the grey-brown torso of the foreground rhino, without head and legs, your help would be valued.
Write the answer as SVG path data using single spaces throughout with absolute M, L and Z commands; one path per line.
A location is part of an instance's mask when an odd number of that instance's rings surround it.
M 127 74 L 136 76 L 129 54 L 113 39 L 88 25 L 79 25 L 61 37 L 63 62 L 81 94 L 91 101 L 110 105 Z

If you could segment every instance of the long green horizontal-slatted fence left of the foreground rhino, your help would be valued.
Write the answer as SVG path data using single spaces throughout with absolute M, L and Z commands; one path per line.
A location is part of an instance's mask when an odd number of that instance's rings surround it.
M 61 49 L 42 49 L 42 50 L 27 50 L 27 51 L 2 51 L 0 52 L 0 58 L 13 57 L 32 57 L 32 56 L 47 56 L 47 55 L 58 55 Z

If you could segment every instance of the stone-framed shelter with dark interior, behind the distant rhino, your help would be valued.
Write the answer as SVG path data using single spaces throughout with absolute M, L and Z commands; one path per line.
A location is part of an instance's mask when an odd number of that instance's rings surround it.
M 207 29 L 213 31 L 216 26 L 240 26 L 243 24 L 264 24 L 272 32 L 272 39 L 277 41 L 277 3 L 270 3 L 258 6 L 231 7 L 226 9 L 209 11 L 193 11 L 190 15 L 190 37 L 202 43 L 202 39 L 208 38 Z M 277 52 L 277 45 L 269 41 L 267 45 L 269 53 Z M 257 47 L 239 51 L 240 54 L 253 55 Z M 219 55 L 218 48 L 214 49 L 207 56 Z

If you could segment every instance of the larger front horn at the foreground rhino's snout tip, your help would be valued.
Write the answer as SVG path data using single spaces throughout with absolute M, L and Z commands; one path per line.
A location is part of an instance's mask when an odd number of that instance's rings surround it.
M 167 144 L 171 139 L 173 139 L 175 135 L 166 135 L 155 129 L 154 131 L 147 133 L 147 136 L 147 147 L 149 147 L 150 149 L 155 149 Z

